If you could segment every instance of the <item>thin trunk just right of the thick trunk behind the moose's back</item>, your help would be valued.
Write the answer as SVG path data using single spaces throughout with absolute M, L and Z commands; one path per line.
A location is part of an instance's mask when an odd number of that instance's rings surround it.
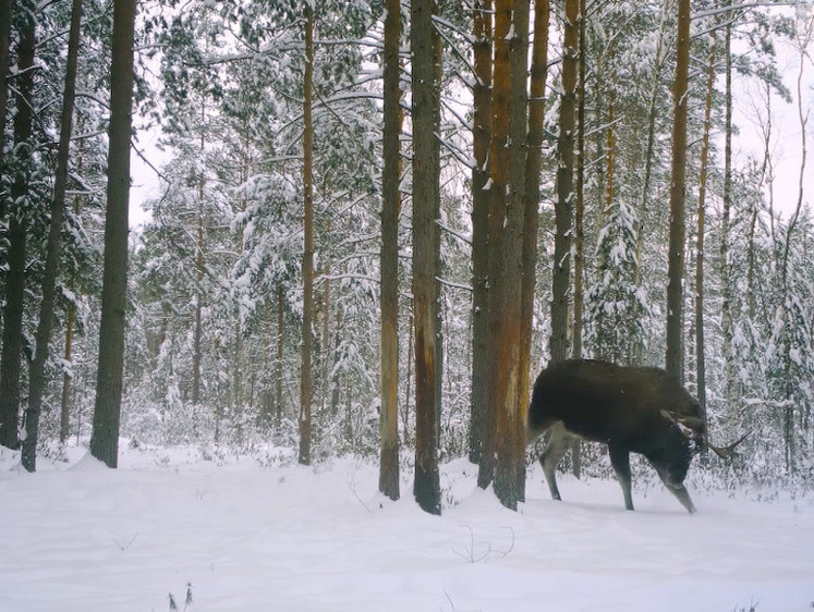
M 706 233 L 706 182 L 709 159 L 709 130 L 712 127 L 713 95 L 715 93 L 715 34 L 713 34 L 709 49 L 709 64 L 707 66 L 706 101 L 704 106 L 704 134 L 701 143 L 701 175 L 698 178 L 698 219 L 695 248 L 695 372 L 698 405 L 704 419 L 704 429 L 708 430 L 706 414 L 706 356 L 704 351 L 704 237 Z M 706 461 L 707 448 L 701 450 Z

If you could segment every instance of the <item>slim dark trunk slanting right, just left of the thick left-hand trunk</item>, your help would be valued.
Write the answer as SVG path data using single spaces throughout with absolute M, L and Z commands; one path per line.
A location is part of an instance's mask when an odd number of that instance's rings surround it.
M 45 365 L 48 359 L 48 344 L 51 341 L 53 303 L 57 293 L 57 266 L 61 248 L 62 220 L 65 216 L 65 185 L 68 183 L 68 161 L 70 157 L 71 133 L 73 132 L 73 102 L 76 90 L 76 63 L 80 48 L 80 24 L 82 22 L 82 0 L 73 0 L 71 8 L 71 30 L 68 37 L 68 60 L 65 63 L 65 88 L 62 96 L 62 117 L 57 152 L 57 174 L 51 203 L 51 223 L 46 245 L 46 261 L 42 276 L 42 302 L 39 306 L 34 362 L 31 367 L 28 408 L 25 413 L 25 440 L 23 441 L 23 467 L 34 472 L 37 467 L 37 440 L 39 438 L 39 415 L 45 392 Z

